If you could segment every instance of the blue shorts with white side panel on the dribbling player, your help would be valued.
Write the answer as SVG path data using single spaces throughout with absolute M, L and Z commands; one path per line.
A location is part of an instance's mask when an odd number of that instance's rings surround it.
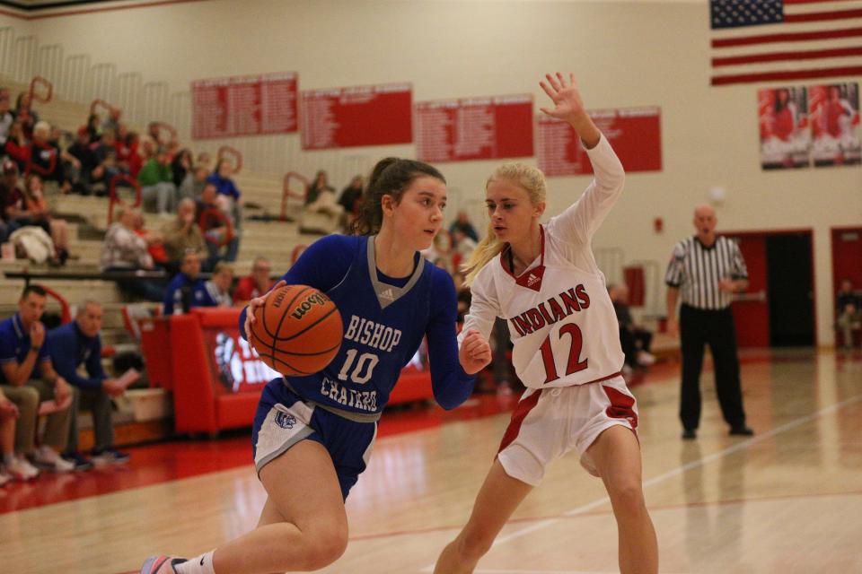
M 254 415 L 251 448 L 255 470 L 259 475 L 268 462 L 300 440 L 314 440 L 330 453 L 341 496 L 347 499 L 368 464 L 376 436 L 376 422 L 350 421 L 304 402 L 281 378 L 275 378 L 264 387 Z

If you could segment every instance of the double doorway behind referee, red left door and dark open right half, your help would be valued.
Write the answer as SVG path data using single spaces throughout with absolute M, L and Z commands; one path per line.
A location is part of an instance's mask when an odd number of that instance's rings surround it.
M 813 345 L 811 231 L 729 235 L 748 267 L 748 290 L 733 305 L 739 346 Z

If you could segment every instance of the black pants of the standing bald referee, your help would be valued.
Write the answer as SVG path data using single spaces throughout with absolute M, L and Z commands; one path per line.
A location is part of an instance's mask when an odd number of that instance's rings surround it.
M 704 345 L 709 345 L 716 373 L 716 394 L 721 413 L 731 427 L 745 424 L 743 392 L 739 382 L 739 357 L 736 354 L 734 315 L 721 310 L 680 308 L 682 345 L 682 389 L 680 420 L 685 429 L 697 429 L 700 422 L 700 370 Z

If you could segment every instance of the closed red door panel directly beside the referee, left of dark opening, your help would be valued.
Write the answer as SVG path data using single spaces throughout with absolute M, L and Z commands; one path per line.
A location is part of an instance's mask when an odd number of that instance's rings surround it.
M 770 346 L 770 305 L 767 281 L 766 237 L 764 235 L 736 235 L 739 250 L 748 267 L 748 290 L 742 300 L 733 304 L 736 340 L 742 347 Z

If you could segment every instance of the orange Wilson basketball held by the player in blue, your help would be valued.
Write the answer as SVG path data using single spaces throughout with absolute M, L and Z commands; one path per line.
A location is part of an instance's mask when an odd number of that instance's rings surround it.
M 306 376 L 328 364 L 341 347 L 341 314 L 308 285 L 285 285 L 254 311 L 251 345 L 260 360 L 283 375 Z

